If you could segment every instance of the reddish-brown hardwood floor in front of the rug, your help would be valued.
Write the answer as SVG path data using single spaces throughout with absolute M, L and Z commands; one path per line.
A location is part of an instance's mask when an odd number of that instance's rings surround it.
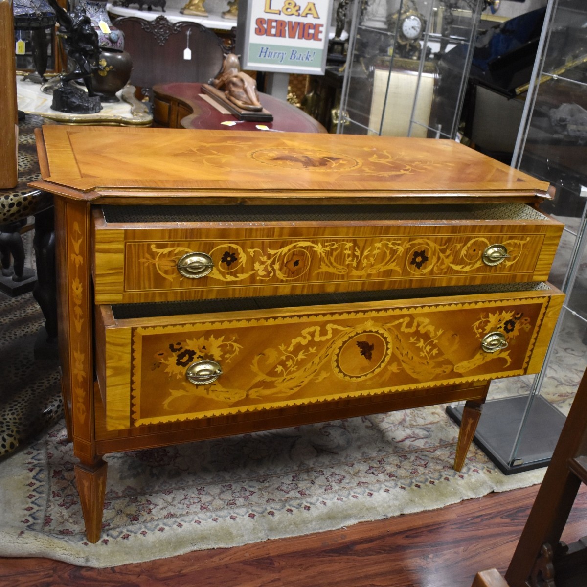
M 321 534 L 107 569 L 0 558 L 0 586 L 470 587 L 478 571 L 505 572 L 537 491 L 538 485 Z M 564 541 L 587 534 L 586 526 L 582 488 Z

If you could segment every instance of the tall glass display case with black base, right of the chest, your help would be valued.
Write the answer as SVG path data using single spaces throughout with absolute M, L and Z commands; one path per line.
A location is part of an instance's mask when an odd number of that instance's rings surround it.
M 505 474 L 548 465 L 587 367 L 586 28 L 584 0 L 549 0 L 511 162 L 555 189 L 541 210 L 565 223 L 549 281 L 566 299 L 541 372 L 490 388 L 475 441 Z

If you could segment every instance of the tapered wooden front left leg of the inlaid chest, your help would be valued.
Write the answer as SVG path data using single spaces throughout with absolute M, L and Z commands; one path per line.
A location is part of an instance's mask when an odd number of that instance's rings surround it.
M 102 532 L 106 470 L 106 461 L 101 458 L 94 467 L 75 465 L 77 491 L 82 503 L 83 521 L 89 542 L 99 541 Z

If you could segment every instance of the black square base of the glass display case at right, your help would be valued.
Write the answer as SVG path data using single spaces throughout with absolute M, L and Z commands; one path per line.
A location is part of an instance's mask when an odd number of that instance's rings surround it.
M 483 406 L 474 442 L 504 475 L 547 467 L 566 420 L 564 414 L 542 396 L 536 396 L 517 454 L 510 461 L 527 403 L 528 396 L 515 396 L 492 400 Z M 460 425 L 462 407 L 448 406 L 446 413 Z

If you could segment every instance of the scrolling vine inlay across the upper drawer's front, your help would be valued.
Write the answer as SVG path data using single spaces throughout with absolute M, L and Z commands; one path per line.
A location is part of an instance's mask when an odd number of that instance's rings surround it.
M 498 238 L 499 235 L 497 235 Z M 529 238 L 503 238 L 508 250 L 501 270 L 515 264 Z M 276 241 L 283 242 L 283 241 Z M 220 282 L 292 281 L 305 276 L 306 281 L 327 275 L 341 279 L 399 278 L 403 275 L 458 274 L 486 268 L 483 251 L 491 245 L 488 238 L 458 237 L 330 240 L 313 238 L 290 242 L 271 248 L 271 240 L 259 247 L 246 247 L 256 242 L 190 243 L 129 243 L 130 254 L 139 259 L 147 271 L 154 268 L 164 280 L 163 286 L 197 287 L 202 284 L 186 279 L 177 271 L 183 255 L 203 250 L 214 259 L 214 268 L 207 279 Z M 127 284 L 129 289 L 141 285 Z

